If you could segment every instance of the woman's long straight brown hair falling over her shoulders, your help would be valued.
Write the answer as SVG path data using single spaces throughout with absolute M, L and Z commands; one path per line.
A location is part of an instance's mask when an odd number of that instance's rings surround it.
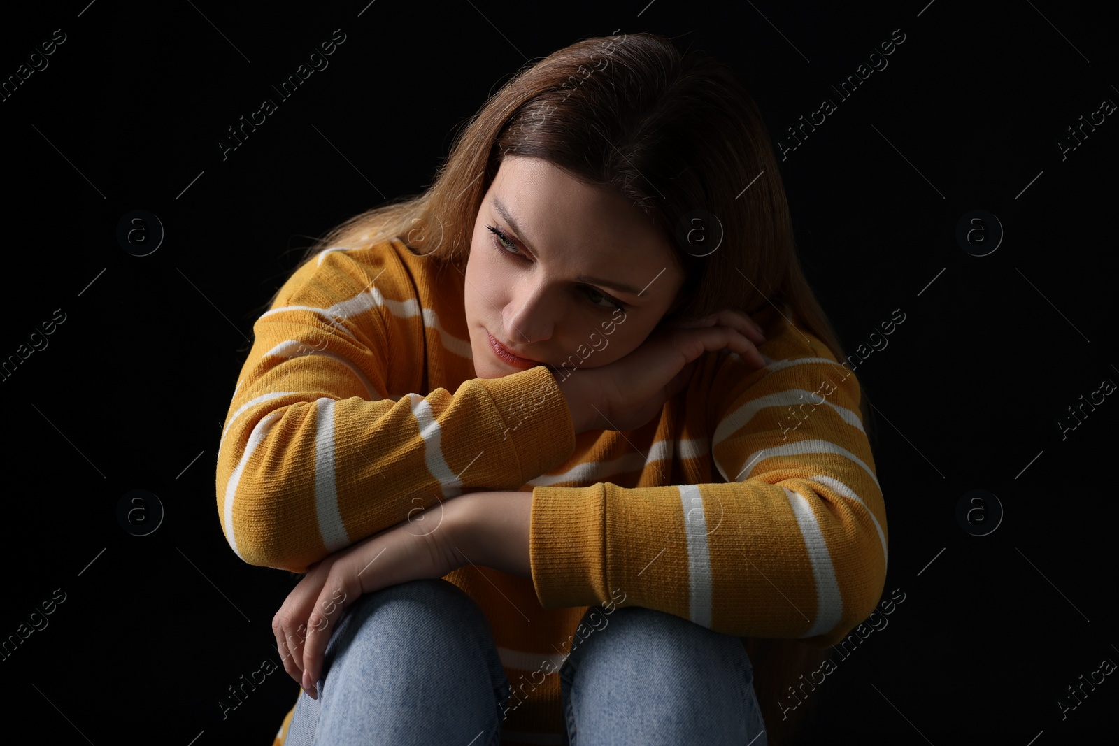
M 801 271 L 780 167 L 756 105 L 726 65 L 652 34 L 584 39 L 526 66 L 458 133 L 424 193 L 350 218 L 304 261 L 328 247 L 397 237 L 464 271 L 474 219 L 506 154 L 540 158 L 613 189 L 664 229 L 686 276 L 664 320 L 772 304 L 844 360 Z M 873 442 L 865 393 L 859 408 Z M 743 643 L 769 743 L 791 744 L 819 697 L 791 712 L 778 700 L 819 668 L 827 649 L 792 639 Z

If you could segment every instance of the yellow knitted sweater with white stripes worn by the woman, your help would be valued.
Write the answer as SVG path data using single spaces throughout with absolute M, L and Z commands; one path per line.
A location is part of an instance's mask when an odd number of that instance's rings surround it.
M 871 614 L 886 517 L 859 387 L 787 310 L 754 314 L 765 368 L 707 352 L 647 425 L 576 436 L 563 396 L 524 414 L 526 393 L 557 390 L 546 367 L 474 377 L 463 285 L 394 239 L 328 248 L 282 286 L 218 452 L 238 557 L 304 572 L 436 497 L 532 491 L 530 578 L 445 576 L 483 611 L 513 686 L 505 743 L 561 743 L 555 671 L 589 606 L 818 645 Z

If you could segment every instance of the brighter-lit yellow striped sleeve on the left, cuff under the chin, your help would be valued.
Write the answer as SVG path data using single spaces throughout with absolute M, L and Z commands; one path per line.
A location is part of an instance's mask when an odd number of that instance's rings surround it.
M 468 489 L 516 490 L 574 450 L 547 368 L 411 390 L 435 332 L 413 318 L 399 257 L 375 248 L 322 252 L 253 327 L 216 475 L 225 538 L 250 564 L 305 572 L 423 509 L 438 521 Z M 533 416 L 507 422 L 526 399 Z

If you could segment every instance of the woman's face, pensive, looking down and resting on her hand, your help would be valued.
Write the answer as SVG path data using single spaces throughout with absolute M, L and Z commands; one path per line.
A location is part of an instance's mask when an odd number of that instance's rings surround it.
M 645 341 L 684 284 L 667 239 L 637 208 L 525 157 L 505 158 L 482 199 L 466 277 L 478 378 L 613 362 Z M 504 358 L 493 340 L 527 361 Z

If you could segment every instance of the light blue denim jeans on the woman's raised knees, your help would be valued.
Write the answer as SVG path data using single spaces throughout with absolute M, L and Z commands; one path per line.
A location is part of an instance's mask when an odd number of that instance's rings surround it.
M 737 638 L 641 606 L 592 606 L 583 622 L 591 631 L 560 669 L 570 746 L 767 746 Z M 443 579 L 358 598 L 318 683 L 318 699 L 300 696 L 285 746 L 501 743 L 510 686 L 489 623 Z

